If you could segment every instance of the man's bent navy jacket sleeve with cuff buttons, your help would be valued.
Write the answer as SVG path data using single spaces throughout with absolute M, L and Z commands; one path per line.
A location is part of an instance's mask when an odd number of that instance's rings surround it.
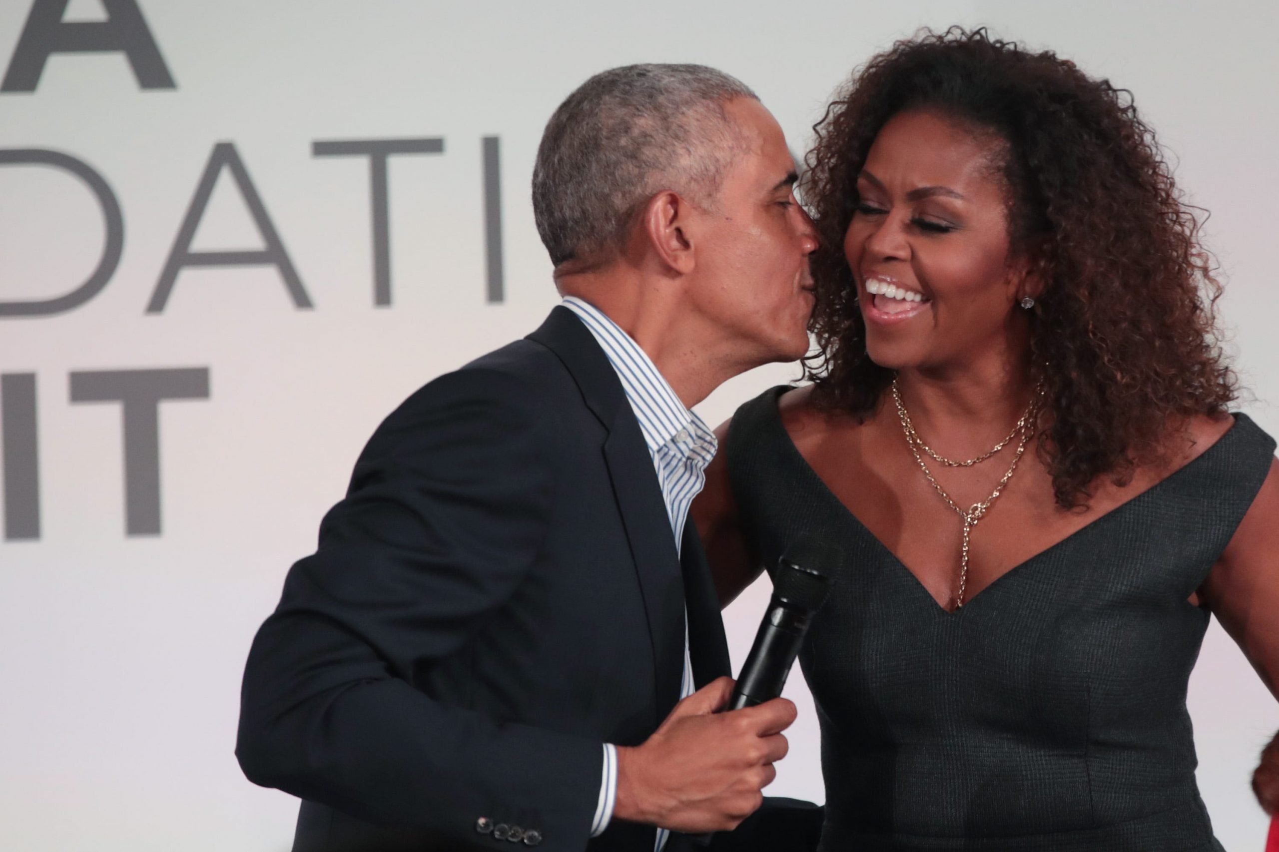
M 586 846 L 599 741 L 498 723 L 413 686 L 542 546 L 555 469 L 537 402 L 517 379 L 467 370 L 375 432 L 249 651 L 237 756 L 251 780 L 471 843 L 491 838 L 478 816 L 527 814 L 542 848 Z

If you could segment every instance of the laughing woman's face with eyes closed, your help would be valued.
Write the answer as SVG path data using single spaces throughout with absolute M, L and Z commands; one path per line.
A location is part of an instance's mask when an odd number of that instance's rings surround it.
M 1004 145 L 938 113 L 893 116 L 857 179 L 844 235 L 866 348 L 894 368 L 945 368 L 1005 354 L 1027 324 L 1010 262 Z

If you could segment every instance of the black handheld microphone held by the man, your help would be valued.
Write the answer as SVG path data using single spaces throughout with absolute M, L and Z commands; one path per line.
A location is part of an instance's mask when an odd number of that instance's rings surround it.
M 790 546 L 773 574 L 773 600 L 742 667 L 725 710 L 741 710 L 781 695 L 813 614 L 830 592 L 838 551 L 811 541 Z

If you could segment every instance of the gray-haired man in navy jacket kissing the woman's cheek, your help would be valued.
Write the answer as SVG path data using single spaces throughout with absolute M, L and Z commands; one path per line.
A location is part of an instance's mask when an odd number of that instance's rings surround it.
M 684 521 L 715 439 L 688 409 L 807 351 L 794 179 L 712 69 L 605 72 L 551 118 L 533 205 L 564 303 L 382 422 L 249 652 L 237 755 L 304 800 L 295 852 L 675 852 L 758 806 L 794 707 L 714 714 Z

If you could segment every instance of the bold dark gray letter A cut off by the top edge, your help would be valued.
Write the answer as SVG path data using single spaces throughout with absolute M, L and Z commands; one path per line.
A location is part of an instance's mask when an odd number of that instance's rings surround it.
M 123 52 L 142 88 L 177 88 L 137 0 L 102 0 L 106 20 L 63 22 L 69 0 L 35 0 L 0 92 L 35 92 L 50 54 Z

